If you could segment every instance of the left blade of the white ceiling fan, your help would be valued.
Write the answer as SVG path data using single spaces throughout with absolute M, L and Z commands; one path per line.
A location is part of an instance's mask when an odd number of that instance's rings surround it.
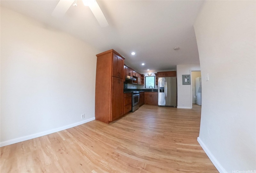
M 52 16 L 62 17 L 68 11 L 69 7 L 73 4 L 74 0 L 60 0 L 52 11 Z

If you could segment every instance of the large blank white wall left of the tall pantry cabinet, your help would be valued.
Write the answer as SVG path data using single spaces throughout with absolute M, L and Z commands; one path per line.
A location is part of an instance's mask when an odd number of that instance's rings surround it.
M 1 7 L 1 146 L 95 119 L 97 53 Z

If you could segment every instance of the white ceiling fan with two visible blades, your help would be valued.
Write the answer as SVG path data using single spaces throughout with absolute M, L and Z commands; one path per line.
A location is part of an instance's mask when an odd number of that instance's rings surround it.
M 96 0 L 82 0 L 85 6 L 89 6 L 93 15 L 99 22 L 101 27 L 108 26 L 108 21 L 105 18 L 104 14 L 101 11 L 100 6 L 96 2 Z M 75 3 L 74 3 L 75 2 Z M 60 0 L 52 12 L 52 16 L 54 17 L 62 17 L 65 15 L 66 11 L 68 11 L 69 7 L 74 3 L 73 6 L 77 6 L 77 0 Z

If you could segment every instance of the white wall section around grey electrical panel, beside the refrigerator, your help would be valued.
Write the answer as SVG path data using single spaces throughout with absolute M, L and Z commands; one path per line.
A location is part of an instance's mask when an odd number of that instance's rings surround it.
M 182 85 L 182 75 L 193 70 L 200 70 L 200 64 L 177 65 L 177 108 L 192 109 L 191 85 Z

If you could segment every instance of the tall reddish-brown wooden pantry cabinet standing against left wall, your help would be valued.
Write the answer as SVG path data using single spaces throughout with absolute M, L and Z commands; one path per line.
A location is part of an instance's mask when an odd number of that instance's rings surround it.
M 124 60 L 111 49 L 97 54 L 95 119 L 110 123 L 124 115 Z

